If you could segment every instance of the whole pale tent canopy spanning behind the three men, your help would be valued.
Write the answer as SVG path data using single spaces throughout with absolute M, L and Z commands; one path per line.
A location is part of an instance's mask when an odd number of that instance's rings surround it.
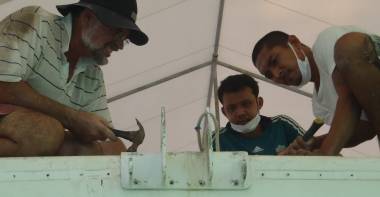
M 0 1 L 0 17 L 28 5 L 57 13 L 55 5 L 72 2 L 76 1 Z M 167 112 L 169 151 L 197 150 L 196 121 L 206 106 L 215 109 L 210 82 L 236 74 L 226 68 L 229 65 L 259 75 L 250 54 L 269 31 L 295 34 L 309 46 L 330 25 L 357 25 L 380 34 L 377 0 L 138 0 L 138 6 L 137 23 L 149 35 L 149 43 L 126 46 L 102 69 L 114 126 L 133 130 L 138 118 L 145 127 L 141 152 L 159 151 L 161 106 Z M 264 98 L 261 114 L 287 114 L 304 128 L 310 125 L 309 97 L 258 81 Z M 312 86 L 303 91 L 311 93 Z M 223 126 L 226 119 L 222 114 L 220 119 Z M 323 127 L 319 133 L 327 130 Z M 343 153 L 378 156 L 379 149 L 372 140 Z

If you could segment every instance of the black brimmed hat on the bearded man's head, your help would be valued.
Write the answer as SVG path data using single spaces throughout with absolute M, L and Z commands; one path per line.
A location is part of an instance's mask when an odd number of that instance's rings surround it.
M 135 45 L 144 45 L 149 40 L 136 25 L 136 0 L 80 0 L 78 3 L 58 5 L 57 10 L 65 16 L 78 6 L 92 10 L 96 17 L 108 26 L 128 29 L 128 39 Z

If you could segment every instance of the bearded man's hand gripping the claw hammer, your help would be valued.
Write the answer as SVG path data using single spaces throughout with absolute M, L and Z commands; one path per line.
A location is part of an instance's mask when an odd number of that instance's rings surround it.
M 95 114 L 73 111 L 68 123 L 68 129 L 84 142 L 106 140 L 107 138 L 113 141 L 117 140 L 107 121 Z

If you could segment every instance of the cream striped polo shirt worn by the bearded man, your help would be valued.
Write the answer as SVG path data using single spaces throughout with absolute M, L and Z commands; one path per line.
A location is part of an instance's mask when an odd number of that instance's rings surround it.
M 0 81 L 26 81 L 37 92 L 76 110 L 111 122 L 102 70 L 81 58 L 70 81 L 71 16 L 41 7 L 20 9 L 0 22 Z

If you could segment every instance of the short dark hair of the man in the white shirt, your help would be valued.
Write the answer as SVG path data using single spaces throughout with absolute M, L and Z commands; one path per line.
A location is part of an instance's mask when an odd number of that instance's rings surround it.
M 272 31 L 272 32 L 267 33 L 253 47 L 253 51 L 252 51 L 253 64 L 256 63 L 257 56 L 259 55 L 260 51 L 263 50 L 264 47 L 268 47 L 269 49 L 271 49 L 275 46 L 287 46 L 288 38 L 289 38 L 289 35 L 282 31 Z

